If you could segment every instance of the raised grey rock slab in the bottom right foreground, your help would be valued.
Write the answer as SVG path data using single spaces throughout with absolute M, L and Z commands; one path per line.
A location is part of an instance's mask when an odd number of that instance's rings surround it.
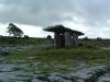
M 74 77 L 75 82 L 94 82 L 100 75 L 103 75 L 106 72 L 107 72 L 106 66 L 98 66 L 79 70 L 78 72 L 72 75 Z

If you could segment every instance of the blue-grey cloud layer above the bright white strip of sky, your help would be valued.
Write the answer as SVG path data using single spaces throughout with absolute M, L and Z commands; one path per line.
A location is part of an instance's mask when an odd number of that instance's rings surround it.
M 46 26 L 78 17 L 85 26 L 103 27 L 110 20 L 109 3 L 110 0 L 0 0 L 0 22 Z

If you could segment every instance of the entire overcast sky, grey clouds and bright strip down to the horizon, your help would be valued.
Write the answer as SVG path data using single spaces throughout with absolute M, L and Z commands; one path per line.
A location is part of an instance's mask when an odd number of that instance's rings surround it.
M 10 22 L 34 37 L 50 34 L 43 27 L 63 24 L 88 37 L 110 38 L 110 0 L 0 0 L 0 35 Z

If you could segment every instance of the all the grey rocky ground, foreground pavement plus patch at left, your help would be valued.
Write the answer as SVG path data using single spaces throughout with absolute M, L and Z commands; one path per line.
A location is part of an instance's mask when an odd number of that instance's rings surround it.
M 32 46 L 30 46 L 32 47 Z M 82 60 L 73 60 L 69 66 L 50 62 L 28 62 L 26 60 L 7 61 L 10 51 L 20 51 L 26 46 L 0 47 L 0 82 L 110 82 L 110 73 L 106 66 L 90 67 Z M 33 57 L 29 57 L 33 59 Z M 45 72 L 44 68 L 57 70 L 68 69 L 72 72 Z

